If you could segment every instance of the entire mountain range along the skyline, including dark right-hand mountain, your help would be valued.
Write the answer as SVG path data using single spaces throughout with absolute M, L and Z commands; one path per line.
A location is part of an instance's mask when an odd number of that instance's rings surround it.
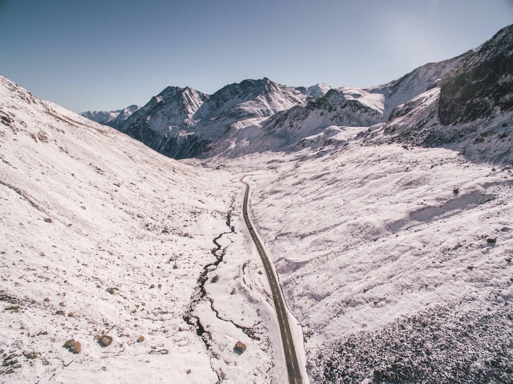
M 475 139 L 480 129 L 469 123 L 513 108 L 512 36 L 506 27 L 477 49 L 375 87 L 294 88 L 248 79 L 212 95 L 167 87 L 142 108 L 82 115 L 177 159 L 294 150 L 310 137 L 322 142 L 319 135 L 332 126 L 373 127 L 362 133 L 367 140 L 422 145 Z M 327 132 L 332 141 L 336 131 Z

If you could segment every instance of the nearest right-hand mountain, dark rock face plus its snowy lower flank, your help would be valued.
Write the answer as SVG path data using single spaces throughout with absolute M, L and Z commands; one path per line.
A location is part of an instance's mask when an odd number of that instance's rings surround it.
M 467 52 L 437 87 L 398 106 L 370 140 L 450 147 L 509 164 L 513 128 L 513 26 Z

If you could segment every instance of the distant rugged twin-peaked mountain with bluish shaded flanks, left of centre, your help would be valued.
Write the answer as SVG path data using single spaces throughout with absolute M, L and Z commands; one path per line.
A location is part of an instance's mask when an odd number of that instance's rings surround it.
M 268 78 L 230 84 L 212 95 L 168 87 L 115 128 L 166 156 L 193 157 L 229 129 L 303 105 L 328 89 L 287 87 Z

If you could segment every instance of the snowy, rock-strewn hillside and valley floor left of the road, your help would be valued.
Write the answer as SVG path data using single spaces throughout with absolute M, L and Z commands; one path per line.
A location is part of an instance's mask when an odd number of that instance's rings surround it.
M 238 179 L 3 77 L 0 160 L 0 381 L 286 380 Z

